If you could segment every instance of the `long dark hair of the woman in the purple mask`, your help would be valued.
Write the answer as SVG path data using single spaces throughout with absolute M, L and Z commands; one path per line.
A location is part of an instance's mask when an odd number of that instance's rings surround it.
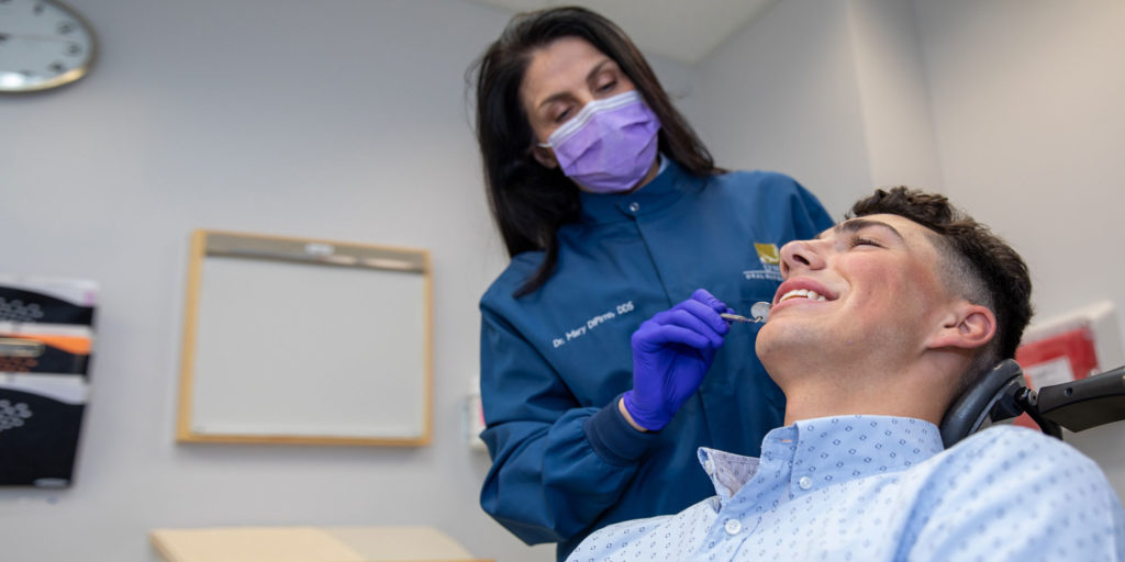
M 560 37 L 579 37 L 612 58 L 660 119 L 659 151 L 696 175 L 719 173 L 711 153 L 673 107 L 652 69 L 629 37 L 585 8 L 565 7 L 516 15 L 469 69 L 476 79 L 477 142 L 493 219 L 510 257 L 543 251 L 539 269 L 515 292 L 528 294 L 550 278 L 558 261 L 556 232 L 578 218 L 578 189 L 559 169 L 531 155 L 534 142 L 520 99 L 532 53 Z M 474 76 L 475 74 L 475 76 Z

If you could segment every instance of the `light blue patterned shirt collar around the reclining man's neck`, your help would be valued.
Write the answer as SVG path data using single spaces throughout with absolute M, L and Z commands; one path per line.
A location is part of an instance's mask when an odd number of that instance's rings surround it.
M 836 416 L 770 432 L 762 442 L 760 459 L 708 447 L 700 447 L 699 457 L 720 502 L 726 504 L 755 475 L 762 477 L 756 483 L 784 483 L 791 497 L 798 497 L 830 484 L 899 472 L 942 450 L 940 432 L 929 422 Z

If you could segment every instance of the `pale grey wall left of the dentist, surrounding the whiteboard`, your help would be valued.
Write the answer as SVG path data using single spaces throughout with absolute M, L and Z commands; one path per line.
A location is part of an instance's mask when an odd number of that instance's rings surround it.
M 464 73 L 508 15 L 460 1 L 71 0 L 101 40 L 61 91 L 0 98 L 0 270 L 102 285 L 75 486 L 0 489 L 6 561 L 155 559 L 155 527 L 433 525 L 554 560 L 479 508 L 460 443 L 477 299 L 506 263 Z M 194 228 L 429 248 L 434 438 L 421 448 L 177 445 Z

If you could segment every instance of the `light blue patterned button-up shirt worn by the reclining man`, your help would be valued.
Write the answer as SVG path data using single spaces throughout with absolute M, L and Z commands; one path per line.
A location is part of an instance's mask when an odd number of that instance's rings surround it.
M 998 426 L 947 451 L 936 426 L 842 416 L 770 432 L 762 457 L 700 448 L 717 497 L 587 537 L 573 562 L 1125 560 L 1101 470 Z

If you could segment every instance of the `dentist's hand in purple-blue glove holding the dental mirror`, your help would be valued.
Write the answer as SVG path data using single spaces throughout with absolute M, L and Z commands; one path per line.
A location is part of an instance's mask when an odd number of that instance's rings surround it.
M 730 327 L 727 305 L 703 289 L 633 332 L 633 388 L 624 407 L 637 425 L 660 430 L 703 382 Z

